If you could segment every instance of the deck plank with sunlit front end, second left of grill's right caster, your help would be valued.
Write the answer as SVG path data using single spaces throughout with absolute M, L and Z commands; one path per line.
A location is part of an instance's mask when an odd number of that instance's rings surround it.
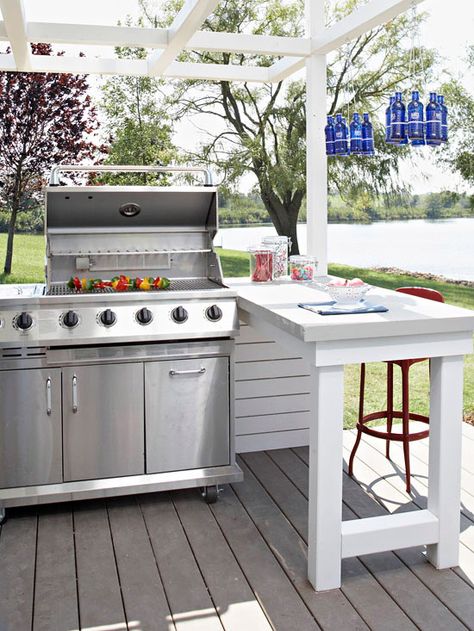
M 138 499 L 177 631 L 222 631 L 170 495 Z

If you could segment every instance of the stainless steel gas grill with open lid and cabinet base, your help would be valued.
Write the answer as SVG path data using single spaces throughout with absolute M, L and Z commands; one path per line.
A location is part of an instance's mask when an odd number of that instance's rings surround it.
M 0 521 L 5 506 L 112 492 L 200 486 L 213 500 L 217 484 L 242 478 L 239 323 L 213 249 L 217 190 L 209 176 L 194 187 L 63 187 L 59 171 L 46 190 L 46 284 L 0 297 Z M 67 286 L 120 274 L 170 286 Z

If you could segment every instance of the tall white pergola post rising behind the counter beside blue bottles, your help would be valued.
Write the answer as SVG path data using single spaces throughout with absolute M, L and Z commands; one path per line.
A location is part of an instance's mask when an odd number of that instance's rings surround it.
M 324 29 L 324 2 L 306 0 L 311 40 Z M 327 158 L 324 140 L 326 120 L 326 56 L 312 54 L 306 60 L 306 204 L 307 253 L 319 261 L 319 273 L 327 273 Z

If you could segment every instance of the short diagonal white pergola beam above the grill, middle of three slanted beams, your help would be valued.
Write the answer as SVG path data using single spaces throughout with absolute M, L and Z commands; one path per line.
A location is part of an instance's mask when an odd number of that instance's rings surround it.
M 163 51 L 153 53 L 148 60 L 148 72 L 151 76 L 164 73 L 218 3 L 219 0 L 185 2 L 169 29 L 168 46 Z

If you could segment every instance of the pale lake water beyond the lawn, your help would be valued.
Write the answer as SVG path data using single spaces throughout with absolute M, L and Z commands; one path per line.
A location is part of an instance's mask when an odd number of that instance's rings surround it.
M 270 225 L 222 227 L 215 244 L 245 250 L 272 234 Z M 306 224 L 298 226 L 298 240 L 304 253 Z M 474 280 L 474 218 L 329 224 L 328 251 L 332 263 Z

